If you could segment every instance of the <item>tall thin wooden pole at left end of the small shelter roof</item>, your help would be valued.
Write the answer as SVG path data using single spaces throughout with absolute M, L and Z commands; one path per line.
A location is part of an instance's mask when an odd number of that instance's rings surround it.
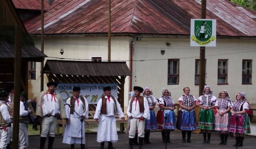
M 43 20 L 43 11 L 44 11 L 44 6 L 43 6 L 43 0 L 41 0 L 41 52 L 44 52 L 44 20 Z M 43 63 L 44 61 L 41 62 L 41 72 L 40 72 L 40 91 L 43 91 Z

